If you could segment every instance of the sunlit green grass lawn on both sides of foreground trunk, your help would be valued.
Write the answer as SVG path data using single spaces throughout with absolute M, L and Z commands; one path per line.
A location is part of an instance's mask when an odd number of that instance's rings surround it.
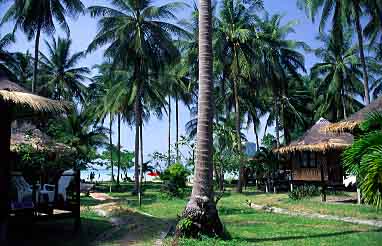
M 128 187 L 126 187 L 128 188 Z M 160 193 L 158 185 L 146 186 L 145 197 L 142 208 L 138 207 L 135 197 L 130 193 L 110 193 L 120 198 L 123 206 L 137 209 L 152 214 L 157 218 L 174 221 L 179 215 L 186 202 L 185 199 L 165 199 Z M 232 240 L 219 241 L 217 239 L 203 240 L 179 240 L 179 245 L 381 245 L 382 231 L 374 227 L 354 225 L 344 222 L 335 222 L 319 219 L 308 219 L 303 217 L 292 217 L 286 215 L 272 214 L 248 208 L 246 200 L 266 201 L 284 199 L 285 195 L 259 195 L 254 192 L 244 194 L 226 193 L 218 204 L 219 214 L 224 226 L 230 233 Z M 257 199 L 257 200 L 256 200 Z M 287 202 L 285 201 L 285 204 Z M 293 204 L 293 202 L 291 202 Z M 316 204 L 315 204 L 316 203 Z M 357 208 L 356 205 L 320 205 L 316 201 L 303 201 L 296 204 L 307 209 L 325 208 L 333 214 L 346 214 L 346 211 L 359 210 L 362 216 L 379 216 L 375 210 L 368 208 Z M 276 205 L 276 204 L 274 204 Z M 322 206 L 322 207 L 321 207 Z M 343 207 L 342 207 L 343 206 Z M 297 207 L 296 207 L 297 209 Z M 345 211 L 345 212 L 343 212 Z M 374 215 L 372 215 L 374 213 Z M 173 239 L 167 239 L 171 244 Z M 150 241 L 144 244 L 149 245 Z

